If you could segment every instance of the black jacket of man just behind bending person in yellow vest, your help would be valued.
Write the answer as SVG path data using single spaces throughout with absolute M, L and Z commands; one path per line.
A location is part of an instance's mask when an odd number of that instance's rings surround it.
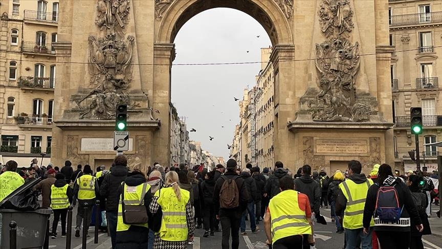
M 321 188 L 319 183 L 315 181 L 310 175 L 302 175 L 294 180 L 295 190 L 305 194 L 310 201 L 312 212 L 319 215 L 319 204 L 321 201 Z

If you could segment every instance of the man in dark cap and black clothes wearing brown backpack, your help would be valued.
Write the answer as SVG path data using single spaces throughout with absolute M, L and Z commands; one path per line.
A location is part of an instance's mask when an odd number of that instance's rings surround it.
M 247 186 L 244 179 L 236 174 L 236 167 L 236 160 L 227 161 L 227 172 L 216 181 L 213 192 L 216 218 L 220 220 L 223 229 L 221 244 L 223 249 L 230 248 L 230 235 L 232 235 L 232 249 L 238 249 L 241 216 L 247 209 L 249 201 Z

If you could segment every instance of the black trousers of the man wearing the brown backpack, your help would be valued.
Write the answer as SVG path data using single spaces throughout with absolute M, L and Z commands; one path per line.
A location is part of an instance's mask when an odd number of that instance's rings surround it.
M 223 230 L 222 249 L 230 249 L 229 240 L 232 234 L 232 249 L 239 248 L 239 223 L 241 222 L 241 213 L 232 210 L 220 210 L 219 221 Z

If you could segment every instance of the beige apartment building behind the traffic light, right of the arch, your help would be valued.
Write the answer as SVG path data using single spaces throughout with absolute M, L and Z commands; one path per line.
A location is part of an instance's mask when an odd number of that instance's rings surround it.
M 437 169 L 438 149 L 424 144 L 442 140 L 442 1 L 389 0 L 391 91 L 396 167 L 415 170 L 408 154 L 415 148 L 410 132 L 410 107 L 422 107 L 423 134 L 419 136 L 421 167 Z M 441 82 L 442 83 L 442 82 Z M 424 160 L 425 158 L 425 160 Z

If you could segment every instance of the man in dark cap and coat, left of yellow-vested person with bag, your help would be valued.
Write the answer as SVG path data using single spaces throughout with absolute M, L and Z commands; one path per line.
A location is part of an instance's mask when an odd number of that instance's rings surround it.
M 115 157 L 114 163 L 112 172 L 104 176 L 100 186 L 100 196 L 106 199 L 107 224 L 113 249 L 116 248 L 117 237 L 118 203 L 120 201 L 118 190 L 128 174 L 127 157 L 119 155 Z

